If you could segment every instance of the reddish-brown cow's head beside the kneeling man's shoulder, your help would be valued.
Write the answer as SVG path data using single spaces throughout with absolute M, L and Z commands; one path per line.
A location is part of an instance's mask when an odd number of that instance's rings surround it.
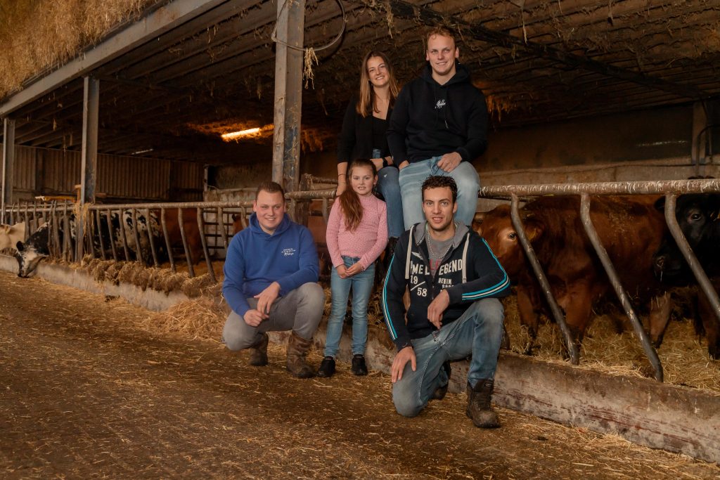
M 521 211 L 521 221 L 530 242 L 542 235 L 542 227 L 531 212 Z M 518 240 L 518 232 L 510 219 L 510 207 L 500 205 L 487 212 L 482 219 L 478 234 L 482 236 L 492 253 L 498 257 L 500 265 L 505 268 L 511 279 L 517 279 L 526 268 L 525 252 Z

